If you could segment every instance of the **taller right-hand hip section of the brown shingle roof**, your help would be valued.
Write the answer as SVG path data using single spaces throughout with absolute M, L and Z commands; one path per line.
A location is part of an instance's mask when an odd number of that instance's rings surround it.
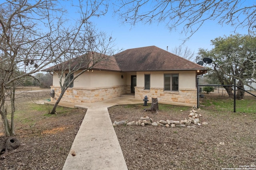
M 123 72 L 155 70 L 207 70 L 156 46 L 128 49 L 114 56 Z

